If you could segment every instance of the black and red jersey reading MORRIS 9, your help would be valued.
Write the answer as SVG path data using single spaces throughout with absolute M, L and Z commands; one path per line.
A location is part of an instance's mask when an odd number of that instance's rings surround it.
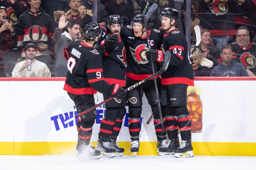
M 64 58 L 68 61 L 64 90 L 73 94 L 110 92 L 111 85 L 104 81 L 102 60 L 96 49 L 83 41 L 73 41 L 64 48 Z

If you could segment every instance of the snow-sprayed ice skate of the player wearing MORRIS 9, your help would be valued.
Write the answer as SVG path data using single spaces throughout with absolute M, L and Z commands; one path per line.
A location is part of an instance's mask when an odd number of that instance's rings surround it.
M 78 157 L 80 159 L 100 159 L 100 151 L 95 150 L 94 146 L 86 145 L 80 147 L 78 151 Z

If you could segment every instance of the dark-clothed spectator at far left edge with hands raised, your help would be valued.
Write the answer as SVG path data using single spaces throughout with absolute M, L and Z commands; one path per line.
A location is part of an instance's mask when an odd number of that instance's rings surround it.
M 15 65 L 17 58 L 16 33 L 12 27 L 12 21 L 9 23 L 7 11 L 4 6 L 0 6 L 0 50 L 2 54 L 4 67 L 9 75 Z

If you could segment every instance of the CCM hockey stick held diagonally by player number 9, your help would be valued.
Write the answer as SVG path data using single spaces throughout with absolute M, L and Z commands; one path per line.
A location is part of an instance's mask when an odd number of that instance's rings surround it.
M 128 87 L 128 88 L 125 89 L 124 91 L 127 92 L 127 91 L 133 89 L 134 87 L 137 87 L 138 85 L 141 85 L 142 83 L 144 83 L 144 82 L 150 80 L 151 78 L 156 77 L 157 75 L 163 73 L 163 72 L 167 69 L 167 67 L 168 67 L 168 64 L 169 64 L 169 62 L 170 62 L 170 58 L 171 58 L 171 52 L 165 53 L 164 64 L 163 64 L 163 67 L 162 67 L 161 70 L 159 70 L 159 71 L 156 72 L 155 74 L 149 76 L 148 78 L 145 78 L 144 80 L 142 80 L 142 81 L 136 83 L 135 85 L 132 85 L 131 87 Z M 108 98 L 108 99 L 106 99 L 106 100 L 100 102 L 99 104 L 97 104 L 97 105 L 95 105 L 95 106 L 93 106 L 93 107 L 91 107 L 91 108 L 85 110 L 84 112 L 82 112 L 82 113 L 76 115 L 75 117 L 72 117 L 72 118 L 66 120 L 64 123 L 66 124 L 66 123 L 68 123 L 68 122 L 70 122 L 70 121 L 72 121 L 72 120 L 75 120 L 77 117 L 79 117 L 79 116 L 81 116 L 81 115 L 84 115 L 84 114 L 90 112 L 91 110 L 95 109 L 96 107 L 99 107 L 100 105 L 102 105 L 102 104 L 104 104 L 104 103 L 106 103 L 106 102 L 108 102 L 108 101 L 110 101 L 110 100 L 112 100 L 112 99 L 114 99 L 114 98 L 115 98 L 115 96 L 112 96 L 112 97 L 110 97 L 110 98 Z

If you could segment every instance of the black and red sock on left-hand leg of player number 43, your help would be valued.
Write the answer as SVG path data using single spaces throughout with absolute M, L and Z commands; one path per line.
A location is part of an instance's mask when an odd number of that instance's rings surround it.
M 166 115 L 165 120 L 166 120 L 165 125 L 166 125 L 168 138 L 177 139 L 178 130 L 179 130 L 177 116 Z

